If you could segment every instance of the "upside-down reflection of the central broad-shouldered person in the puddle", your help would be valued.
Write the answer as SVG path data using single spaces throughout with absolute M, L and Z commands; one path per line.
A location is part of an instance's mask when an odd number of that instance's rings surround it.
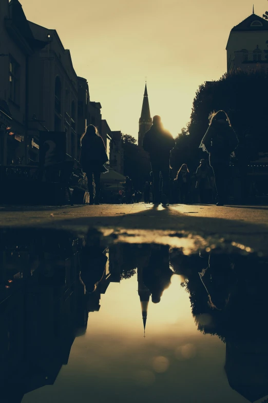
M 152 245 L 149 264 L 143 268 L 143 283 L 151 292 L 152 302 L 160 302 L 173 274 L 169 268 L 169 246 Z

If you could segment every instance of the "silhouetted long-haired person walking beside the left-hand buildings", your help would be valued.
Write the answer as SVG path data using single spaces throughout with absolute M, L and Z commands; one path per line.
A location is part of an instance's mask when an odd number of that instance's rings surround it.
M 87 176 L 89 204 L 100 204 L 100 179 L 101 172 L 105 171 L 103 164 L 108 161 L 106 147 L 97 128 L 93 125 L 87 127 L 86 132 L 81 137 L 80 164 Z M 95 198 L 93 194 L 93 178 L 95 183 Z

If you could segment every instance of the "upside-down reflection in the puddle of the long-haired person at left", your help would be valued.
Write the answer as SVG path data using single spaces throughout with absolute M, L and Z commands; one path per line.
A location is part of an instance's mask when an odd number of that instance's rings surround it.
M 91 293 L 97 289 L 104 276 L 107 259 L 101 247 L 92 246 L 83 250 L 80 278 L 85 285 L 86 292 Z

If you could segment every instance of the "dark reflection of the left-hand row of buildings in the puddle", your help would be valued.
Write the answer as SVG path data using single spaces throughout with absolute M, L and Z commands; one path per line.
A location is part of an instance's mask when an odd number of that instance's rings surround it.
M 10 231 L 5 237 L 0 393 L 4 401 L 20 402 L 25 393 L 53 384 L 67 364 L 76 328 L 86 322 L 85 290 L 75 239 L 50 231 Z

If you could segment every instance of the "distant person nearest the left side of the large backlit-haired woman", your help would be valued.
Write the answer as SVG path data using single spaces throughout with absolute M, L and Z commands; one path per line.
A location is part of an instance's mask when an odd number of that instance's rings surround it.
M 212 203 L 213 192 L 213 172 L 206 160 L 201 160 L 196 171 L 196 188 L 198 191 L 199 201 L 202 204 Z

